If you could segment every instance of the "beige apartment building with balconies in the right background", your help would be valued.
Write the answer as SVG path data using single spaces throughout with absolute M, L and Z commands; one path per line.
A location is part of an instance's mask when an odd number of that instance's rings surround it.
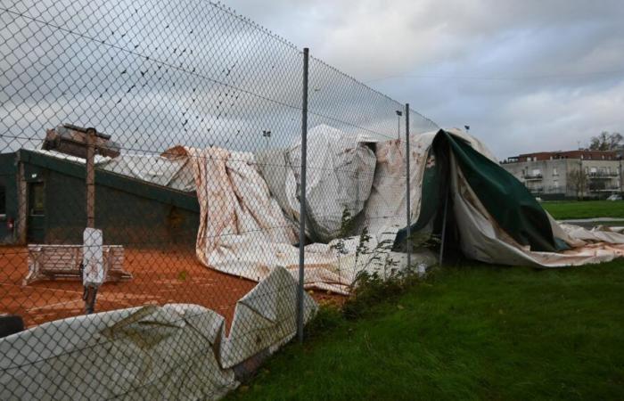
M 622 160 L 615 151 L 542 151 L 501 165 L 542 199 L 603 199 L 622 191 Z

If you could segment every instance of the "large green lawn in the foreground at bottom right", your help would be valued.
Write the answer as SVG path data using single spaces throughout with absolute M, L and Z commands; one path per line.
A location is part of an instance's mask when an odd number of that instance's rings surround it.
M 230 399 L 624 398 L 621 261 L 445 267 L 355 321 L 322 315 Z

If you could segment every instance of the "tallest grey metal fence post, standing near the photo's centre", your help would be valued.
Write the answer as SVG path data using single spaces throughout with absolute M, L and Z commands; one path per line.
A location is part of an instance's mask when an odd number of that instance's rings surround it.
M 303 280 L 306 254 L 306 159 L 308 158 L 308 47 L 303 49 L 303 97 L 301 102 L 301 188 L 299 212 L 299 288 L 297 291 L 297 335 L 303 342 Z

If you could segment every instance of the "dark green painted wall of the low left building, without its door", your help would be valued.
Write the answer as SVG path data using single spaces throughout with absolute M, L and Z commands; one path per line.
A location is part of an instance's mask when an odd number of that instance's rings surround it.
M 86 225 L 85 166 L 31 151 L 20 151 L 19 157 L 26 181 L 45 185 L 43 241 L 82 243 Z M 16 177 L 15 154 L 0 155 L 0 180 L 8 183 L 7 216 L 11 204 L 17 220 Z M 0 241 L 5 226 L 0 227 Z M 95 226 L 103 230 L 107 244 L 194 249 L 199 203 L 194 194 L 96 170 Z

